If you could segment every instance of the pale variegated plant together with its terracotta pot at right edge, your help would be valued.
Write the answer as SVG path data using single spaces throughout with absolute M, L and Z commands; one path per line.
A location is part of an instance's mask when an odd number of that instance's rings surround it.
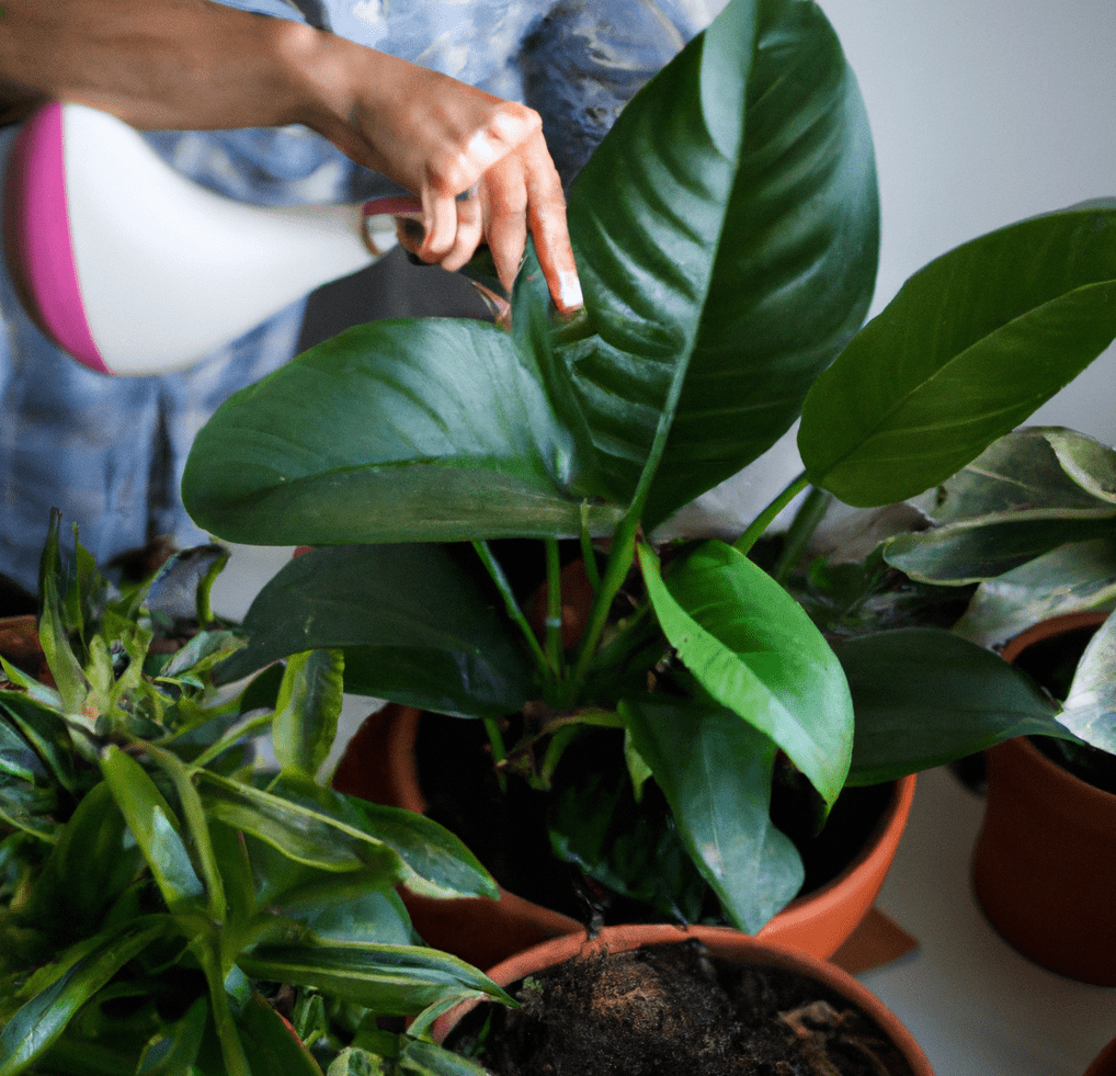
M 942 487 L 934 526 L 883 557 L 920 584 L 975 585 L 954 631 L 1024 670 L 1075 736 L 987 752 L 981 904 L 1037 962 L 1116 983 L 1116 452 L 1060 427 L 1001 439 Z

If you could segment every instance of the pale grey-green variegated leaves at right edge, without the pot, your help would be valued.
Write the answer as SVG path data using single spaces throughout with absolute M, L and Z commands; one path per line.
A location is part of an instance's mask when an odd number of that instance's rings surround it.
M 1116 451 L 1072 430 L 1016 430 L 943 483 L 932 517 L 879 553 L 918 585 L 974 588 L 958 635 L 1000 646 L 1052 616 L 1109 614 L 1050 670 L 1059 721 L 1079 741 L 1046 749 L 1116 788 Z

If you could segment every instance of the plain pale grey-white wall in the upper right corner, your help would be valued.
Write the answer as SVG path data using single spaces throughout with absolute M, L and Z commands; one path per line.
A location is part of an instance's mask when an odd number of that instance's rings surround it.
M 1116 196 L 1116 0 L 819 0 L 872 121 L 883 204 L 873 314 L 932 258 Z M 1116 444 L 1116 348 L 1031 422 Z

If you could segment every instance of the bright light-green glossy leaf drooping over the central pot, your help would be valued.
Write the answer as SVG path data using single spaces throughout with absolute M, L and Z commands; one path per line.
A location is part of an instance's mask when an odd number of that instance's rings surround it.
M 665 578 L 646 547 L 639 564 L 660 624 L 686 667 L 718 702 L 786 751 L 831 805 L 848 772 L 853 708 L 833 650 L 801 606 L 721 541 L 694 547 Z

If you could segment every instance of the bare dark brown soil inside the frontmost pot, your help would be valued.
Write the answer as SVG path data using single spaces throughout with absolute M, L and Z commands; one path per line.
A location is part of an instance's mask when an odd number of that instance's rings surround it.
M 567 961 L 484 1005 L 446 1045 L 493 1076 L 911 1076 L 839 993 L 698 941 Z

